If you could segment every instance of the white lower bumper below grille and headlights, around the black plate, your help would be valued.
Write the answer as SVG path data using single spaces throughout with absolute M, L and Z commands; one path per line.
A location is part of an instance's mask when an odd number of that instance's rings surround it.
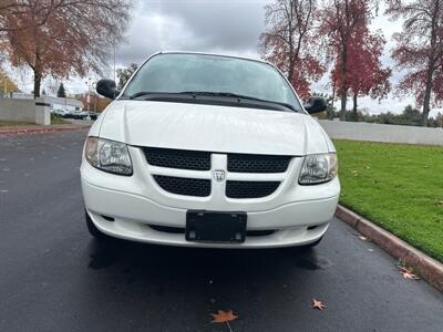
M 247 236 L 244 243 L 188 242 L 179 232 L 159 231 L 151 226 L 185 229 L 186 211 L 146 197 L 113 190 L 82 179 L 87 214 L 104 234 L 141 242 L 212 248 L 277 248 L 315 242 L 323 236 L 332 218 L 338 195 L 323 199 L 285 204 L 248 211 L 248 230 L 274 230 L 270 235 Z M 113 221 L 109 219 L 113 218 Z

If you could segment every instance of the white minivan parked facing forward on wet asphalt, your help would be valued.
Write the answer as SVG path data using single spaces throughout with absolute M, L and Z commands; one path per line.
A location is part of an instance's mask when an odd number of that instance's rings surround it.
M 162 52 L 91 127 L 81 181 L 87 228 L 156 245 L 312 247 L 340 194 L 337 154 L 274 65 L 237 56 Z

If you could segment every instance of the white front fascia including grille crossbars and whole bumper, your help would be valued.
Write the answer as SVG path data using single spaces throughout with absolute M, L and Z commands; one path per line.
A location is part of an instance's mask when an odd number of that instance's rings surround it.
M 213 181 L 212 194 L 208 197 L 174 195 L 162 190 L 152 175 L 210 177 L 214 169 L 225 169 L 226 155 L 213 155 L 213 169 L 206 173 L 151 166 L 140 148 L 130 146 L 128 149 L 134 167 L 134 174 L 130 177 L 99 170 L 84 158 L 81 166 L 82 190 L 87 214 L 102 232 L 117 238 L 157 245 L 213 248 L 301 246 L 322 237 L 339 199 L 338 178 L 316 186 L 297 184 L 302 164 L 302 158 L 298 157 L 292 158 L 287 172 L 281 174 L 227 173 L 227 179 L 259 177 L 281 180 L 279 188 L 268 197 L 227 198 L 226 181 Z M 243 243 L 189 242 L 186 241 L 184 234 L 186 212 L 189 209 L 245 211 L 248 216 L 248 231 L 267 230 L 268 234 L 261 232 L 257 236 L 255 232 L 255 236 L 247 236 Z M 174 231 L 163 231 L 168 230 L 167 228 Z

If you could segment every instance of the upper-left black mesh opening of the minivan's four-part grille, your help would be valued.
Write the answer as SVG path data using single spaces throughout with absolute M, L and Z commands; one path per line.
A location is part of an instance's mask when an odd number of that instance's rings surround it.
M 210 153 L 173 148 L 143 148 L 147 164 L 159 167 L 209 170 Z

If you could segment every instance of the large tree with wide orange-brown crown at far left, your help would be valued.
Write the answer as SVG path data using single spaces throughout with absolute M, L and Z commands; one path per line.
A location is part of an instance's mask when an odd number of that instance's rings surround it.
M 0 11 L 1 45 L 13 65 L 31 68 L 40 96 L 45 75 L 100 72 L 110 45 L 122 38 L 131 1 L 8 0 Z

